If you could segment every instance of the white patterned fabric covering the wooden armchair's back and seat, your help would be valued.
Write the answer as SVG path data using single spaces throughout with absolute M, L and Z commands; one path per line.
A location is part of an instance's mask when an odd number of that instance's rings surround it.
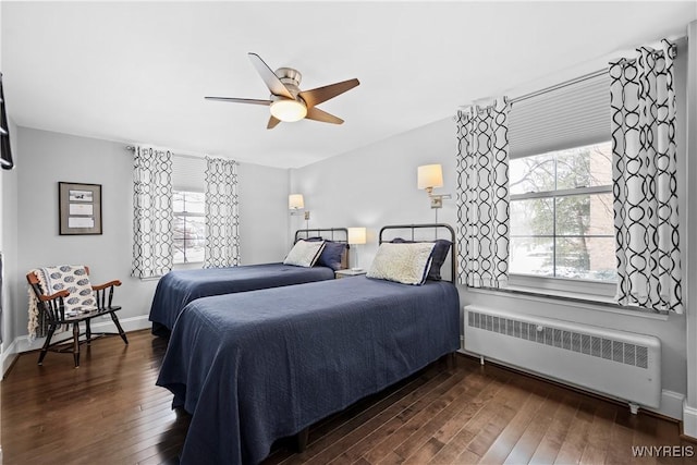
M 61 265 L 39 268 L 38 271 L 39 282 L 47 294 L 54 294 L 62 290 L 70 292 L 68 298 L 63 299 L 65 315 L 74 315 L 81 310 L 91 310 L 97 307 L 89 276 L 84 266 Z

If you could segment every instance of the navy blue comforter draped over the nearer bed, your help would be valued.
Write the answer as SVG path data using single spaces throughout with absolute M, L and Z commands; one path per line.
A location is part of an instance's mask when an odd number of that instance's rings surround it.
M 192 414 L 182 464 L 256 464 L 294 435 L 460 347 L 455 286 L 365 277 L 199 298 L 157 381 Z

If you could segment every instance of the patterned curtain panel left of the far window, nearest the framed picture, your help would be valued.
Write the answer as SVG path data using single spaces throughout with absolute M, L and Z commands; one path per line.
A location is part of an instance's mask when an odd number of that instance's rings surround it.
M 137 278 L 172 269 L 172 152 L 135 148 L 133 160 L 133 270 Z

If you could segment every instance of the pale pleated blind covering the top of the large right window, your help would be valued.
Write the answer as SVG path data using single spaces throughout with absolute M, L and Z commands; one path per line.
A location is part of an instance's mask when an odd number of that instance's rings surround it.
M 610 76 L 514 98 L 509 118 L 511 159 L 610 140 Z

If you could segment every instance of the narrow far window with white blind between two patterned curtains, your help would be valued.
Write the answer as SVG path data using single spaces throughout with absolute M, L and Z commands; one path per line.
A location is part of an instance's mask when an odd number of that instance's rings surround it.
M 174 265 L 204 262 L 205 171 L 203 158 L 175 155 L 172 159 Z

